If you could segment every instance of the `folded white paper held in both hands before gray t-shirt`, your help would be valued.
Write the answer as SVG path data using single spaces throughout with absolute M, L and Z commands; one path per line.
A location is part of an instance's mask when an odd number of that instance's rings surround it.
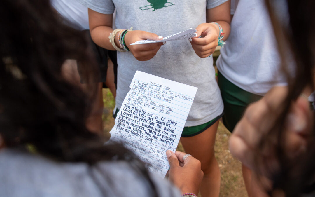
M 190 28 L 183 32 L 175 33 L 173 35 L 164 37 L 162 40 L 138 40 L 137 42 L 129 44 L 129 45 L 160 43 L 160 42 L 168 42 L 168 41 L 173 41 L 173 40 L 183 40 L 183 39 L 193 38 L 197 36 L 197 34 L 195 33 L 196 31 L 197 30 Z

